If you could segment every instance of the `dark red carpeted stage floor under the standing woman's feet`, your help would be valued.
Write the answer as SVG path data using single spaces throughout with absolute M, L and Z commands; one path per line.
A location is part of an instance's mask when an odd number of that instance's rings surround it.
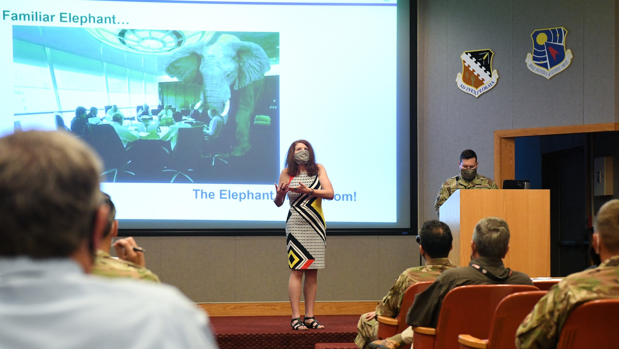
M 295 331 L 290 316 L 216 316 L 210 322 L 221 349 L 314 349 L 316 343 L 352 343 L 360 315 L 322 315 L 325 329 Z

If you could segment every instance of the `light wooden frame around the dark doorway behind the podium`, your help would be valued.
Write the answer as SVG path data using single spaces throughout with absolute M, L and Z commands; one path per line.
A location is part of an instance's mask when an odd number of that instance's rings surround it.
M 574 126 L 534 127 L 495 131 L 495 182 L 503 188 L 503 179 L 516 179 L 516 137 L 549 134 L 619 131 L 619 123 Z

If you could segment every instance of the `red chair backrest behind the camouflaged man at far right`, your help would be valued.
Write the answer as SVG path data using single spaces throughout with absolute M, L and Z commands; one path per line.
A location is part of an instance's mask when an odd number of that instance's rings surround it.
M 557 349 L 617 348 L 619 299 L 597 299 L 574 309 L 561 329 Z

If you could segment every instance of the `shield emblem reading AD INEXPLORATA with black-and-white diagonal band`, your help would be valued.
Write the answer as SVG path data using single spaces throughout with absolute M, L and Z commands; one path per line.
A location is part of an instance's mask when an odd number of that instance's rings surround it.
M 475 98 L 495 87 L 499 74 L 492 70 L 492 50 L 464 51 L 462 53 L 462 72 L 458 73 L 458 87 Z

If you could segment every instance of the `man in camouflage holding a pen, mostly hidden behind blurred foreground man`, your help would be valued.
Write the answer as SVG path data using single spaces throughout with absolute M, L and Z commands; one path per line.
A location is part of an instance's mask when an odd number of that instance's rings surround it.
M 119 239 L 114 243 L 118 259 L 110 256 L 112 239 L 118 236 L 118 221 L 116 221 L 116 208 L 108 194 L 103 193 L 105 204 L 110 207 L 108 222 L 100 249 L 97 250 L 95 262 L 92 265 L 92 274 L 103 277 L 124 277 L 138 280 L 150 280 L 160 282 L 157 275 L 145 268 L 144 252 L 134 251 L 138 247 L 136 241 L 129 237 Z

